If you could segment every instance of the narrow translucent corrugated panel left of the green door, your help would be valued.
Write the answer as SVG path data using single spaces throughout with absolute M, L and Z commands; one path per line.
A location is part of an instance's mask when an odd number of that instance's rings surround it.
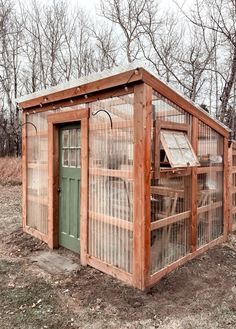
M 27 225 L 47 234 L 48 113 L 30 114 L 27 129 Z

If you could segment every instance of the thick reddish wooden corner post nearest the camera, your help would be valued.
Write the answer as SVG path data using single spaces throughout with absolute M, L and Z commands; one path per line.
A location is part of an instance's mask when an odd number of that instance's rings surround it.
M 134 286 L 144 290 L 150 264 L 152 88 L 134 87 Z

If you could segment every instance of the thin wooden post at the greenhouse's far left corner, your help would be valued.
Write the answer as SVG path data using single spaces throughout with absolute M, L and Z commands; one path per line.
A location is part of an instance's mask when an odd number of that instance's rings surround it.
M 27 225 L 27 115 L 22 113 L 22 227 Z

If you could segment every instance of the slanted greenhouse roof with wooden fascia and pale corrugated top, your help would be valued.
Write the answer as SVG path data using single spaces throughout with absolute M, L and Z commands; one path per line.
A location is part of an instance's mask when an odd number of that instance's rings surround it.
M 222 135 L 228 136 L 230 129 L 227 126 L 212 117 L 188 97 L 163 82 L 156 74 L 151 73 L 150 69 L 144 68 L 143 65 L 138 66 L 136 63 L 73 79 L 55 87 L 19 97 L 15 101 L 23 110 L 30 111 L 39 106 L 43 109 L 49 104 L 58 105 L 60 101 L 73 100 L 82 95 L 97 93 L 118 86 L 128 87 L 138 81 L 152 86 L 158 93 L 188 113 L 198 117 Z

